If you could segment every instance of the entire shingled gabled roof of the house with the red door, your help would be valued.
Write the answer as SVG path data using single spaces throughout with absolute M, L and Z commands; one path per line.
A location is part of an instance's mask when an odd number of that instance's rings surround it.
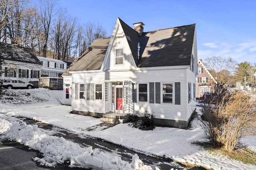
M 117 18 L 117 21 L 124 31 L 137 67 L 190 65 L 196 24 L 144 32 L 139 36 L 120 18 Z M 76 63 L 70 66 L 69 71 L 99 70 L 104 57 L 107 56 L 108 47 L 112 47 L 113 38 L 115 35 L 112 35 L 111 39 L 95 40 Z

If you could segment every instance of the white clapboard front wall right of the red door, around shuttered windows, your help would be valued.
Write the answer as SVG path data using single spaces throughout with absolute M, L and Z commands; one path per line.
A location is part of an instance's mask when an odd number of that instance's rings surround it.
M 183 69 L 173 69 L 173 70 L 149 70 L 149 71 L 139 71 L 133 79 L 137 83 L 150 83 L 150 82 L 160 82 L 161 89 L 162 83 L 174 83 L 180 82 L 180 105 L 175 105 L 174 103 L 163 103 L 162 93 L 161 93 L 161 103 L 149 103 L 138 101 L 138 90 L 137 90 L 137 103 L 134 105 L 134 112 L 144 111 L 154 112 L 156 119 L 171 119 L 186 121 L 186 94 L 183 93 L 186 90 L 186 72 Z M 156 87 L 155 87 L 156 88 Z M 138 89 L 138 88 L 137 88 Z M 162 91 L 162 90 L 161 90 Z M 174 92 L 174 89 L 173 89 Z M 154 96 L 155 98 L 155 96 Z M 148 97 L 149 99 L 149 97 Z M 175 95 L 173 94 L 173 99 Z

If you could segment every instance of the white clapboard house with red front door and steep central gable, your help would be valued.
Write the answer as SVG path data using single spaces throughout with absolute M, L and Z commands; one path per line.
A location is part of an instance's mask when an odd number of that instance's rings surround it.
M 63 73 L 64 104 L 73 113 L 148 111 L 155 125 L 188 126 L 196 106 L 196 25 L 143 26 L 117 18 L 111 38 L 95 40 Z

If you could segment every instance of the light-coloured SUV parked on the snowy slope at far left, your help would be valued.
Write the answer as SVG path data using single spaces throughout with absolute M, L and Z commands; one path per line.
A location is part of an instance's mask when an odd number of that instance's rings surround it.
M 6 89 L 32 89 L 34 85 L 18 79 L 3 79 L 1 80 L 1 87 Z

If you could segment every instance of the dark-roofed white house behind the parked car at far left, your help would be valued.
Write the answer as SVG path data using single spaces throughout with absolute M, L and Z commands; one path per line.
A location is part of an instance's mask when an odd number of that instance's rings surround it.
M 0 42 L 0 59 L 0 79 L 18 78 L 37 87 L 42 65 L 31 49 Z

